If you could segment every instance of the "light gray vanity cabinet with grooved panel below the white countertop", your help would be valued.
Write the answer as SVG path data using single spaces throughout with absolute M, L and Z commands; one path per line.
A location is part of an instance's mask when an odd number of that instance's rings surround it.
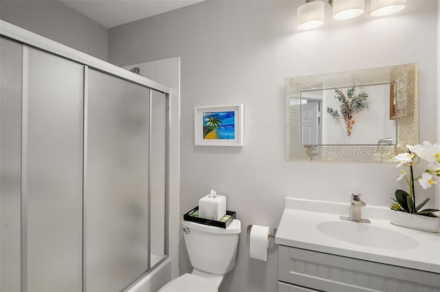
M 278 245 L 278 292 L 300 291 L 440 292 L 440 274 Z

